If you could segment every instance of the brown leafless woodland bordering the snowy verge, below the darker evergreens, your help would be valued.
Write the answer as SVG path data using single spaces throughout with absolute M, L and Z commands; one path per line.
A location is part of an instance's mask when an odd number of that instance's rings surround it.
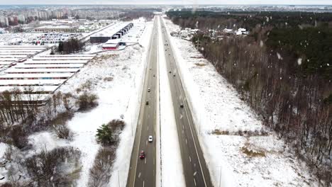
M 316 171 L 321 179 L 331 182 L 331 67 L 323 64 L 331 62 L 331 51 L 319 52 L 316 55 L 322 56 L 316 59 L 271 50 L 272 46 L 258 45 L 260 42 L 250 37 L 218 41 L 201 34 L 192 39 L 197 40 L 204 57 L 262 115 L 265 124 L 292 143 L 296 152 L 304 153 L 309 163 L 319 168 Z M 271 40 L 268 43 L 274 43 Z M 316 64 L 321 58 L 326 60 Z

